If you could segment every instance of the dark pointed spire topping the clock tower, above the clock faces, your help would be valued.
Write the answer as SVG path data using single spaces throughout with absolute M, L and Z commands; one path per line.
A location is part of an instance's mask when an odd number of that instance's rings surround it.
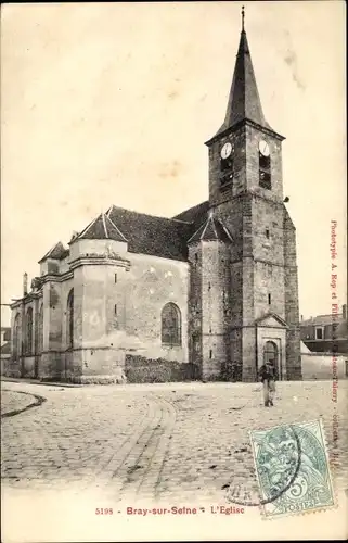
M 216 136 L 241 121 L 248 119 L 272 130 L 267 123 L 258 93 L 249 46 L 245 31 L 245 11 L 242 8 L 242 31 L 232 86 L 223 125 Z M 273 130 L 272 130 L 273 131 Z

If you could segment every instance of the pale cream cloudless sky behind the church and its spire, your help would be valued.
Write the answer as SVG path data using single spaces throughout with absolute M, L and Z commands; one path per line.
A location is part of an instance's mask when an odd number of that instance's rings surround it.
M 263 113 L 283 142 L 300 314 L 347 299 L 346 43 L 340 1 L 243 2 Z M 242 2 L 4 4 L 1 303 L 112 204 L 173 216 L 208 198 Z M 9 310 L 2 307 L 2 324 Z

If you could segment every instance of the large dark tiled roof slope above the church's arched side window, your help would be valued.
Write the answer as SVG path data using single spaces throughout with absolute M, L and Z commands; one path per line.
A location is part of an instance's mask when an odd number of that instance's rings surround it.
M 185 261 L 193 225 L 176 218 L 156 217 L 113 205 L 108 218 L 123 232 L 131 253 Z

